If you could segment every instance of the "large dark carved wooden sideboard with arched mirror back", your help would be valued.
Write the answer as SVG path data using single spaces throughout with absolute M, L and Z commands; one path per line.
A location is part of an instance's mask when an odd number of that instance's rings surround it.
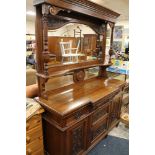
M 81 155 L 93 148 L 120 121 L 124 82 L 109 79 L 105 64 L 107 25 L 111 28 L 109 55 L 118 13 L 88 0 L 34 0 L 36 8 L 36 59 L 39 96 L 43 114 L 44 149 L 48 155 Z M 101 46 L 95 60 L 51 64 L 48 30 L 69 23 L 92 28 Z M 86 70 L 98 67 L 98 76 L 86 79 Z M 71 75 L 73 83 L 57 78 Z M 49 79 L 53 88 L 46 89 Z M 60 87 L 55 85 L 61 84 Z M 52 86 L 51 86 L 52 87 Z

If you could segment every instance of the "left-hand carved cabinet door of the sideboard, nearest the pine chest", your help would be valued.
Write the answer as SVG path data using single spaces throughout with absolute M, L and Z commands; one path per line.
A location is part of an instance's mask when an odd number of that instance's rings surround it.
M 67 131 L 67 154 L 79 155 L 87 148 L 87 120 L 82 120 Z

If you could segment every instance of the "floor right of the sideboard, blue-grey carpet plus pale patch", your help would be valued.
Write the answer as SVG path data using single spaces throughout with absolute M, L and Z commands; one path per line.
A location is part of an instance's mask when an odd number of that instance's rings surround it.
M 119 123 L 87 155 L 129 155 L 129 129 Z

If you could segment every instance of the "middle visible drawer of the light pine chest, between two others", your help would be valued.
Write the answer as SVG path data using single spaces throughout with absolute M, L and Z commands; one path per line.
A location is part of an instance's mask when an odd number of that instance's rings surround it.
M 31 143 L 35 139 L 42 136 L 42 124 L 26 132 L 26 144 Z

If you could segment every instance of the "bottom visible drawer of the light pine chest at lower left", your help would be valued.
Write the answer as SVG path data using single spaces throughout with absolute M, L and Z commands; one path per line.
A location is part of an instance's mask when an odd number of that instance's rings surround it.
M 43 148 L 43 137 L 38 137 L 30 144 L 26 145 L 26 155 L 32 155 L 33 153 Z

